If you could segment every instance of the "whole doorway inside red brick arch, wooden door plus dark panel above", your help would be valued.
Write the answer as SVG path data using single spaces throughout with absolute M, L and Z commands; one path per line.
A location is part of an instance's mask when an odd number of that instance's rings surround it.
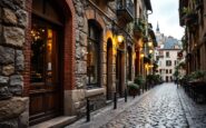
M 33 0 L 31 13 L 29 124 L 62 115 L 63 17 L 55 1 Z

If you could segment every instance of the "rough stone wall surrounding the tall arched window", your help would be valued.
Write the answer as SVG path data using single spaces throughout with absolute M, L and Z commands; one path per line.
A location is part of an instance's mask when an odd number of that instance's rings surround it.
M 87 93 L 87 36 L 88 36 L 88 19 L 96 18 L 96 20 L 101 20 L 101 22 L 99 22 L 100 24 L 105 24 L 105 27 L 102 27 L 102 40 L 101 40 L 101 75 L 100 75 L 100 86 L 102 88 L 105 88 L 106 83 L 106 61 L 104 61 L 104 59 L 106 59 L 106 48 L 107 48 L 107 39 L 105 39 L 104 37 L 106 37 L 106 31 L 108 29 L 111 28 L 111 21 L 109 21 L 102 13 L 100 13 L 99 11 L 97 11 L 87 0 L 72 0 L 73 1 L 73 6 L 75 6 L 75 10 L 76 10 L 76 70 L 75 70 L 75 75 L 76 75 L 76 80 L 75 80 L 75 91 L 78 90 L 85 90 L 85 91 L 78 91 L 78 96 L 85 95 Z M 115 3 L 115 2 L 114 2 Z M 109 3 L 110 7 L 114 8 L 112 3 Z M 88 11 L 89 10 L 89 11 Z M 112 12 L 111 8 L 107 9 L 108 12 L 108 17 L 115 17 L 115 12 Z M 72 95 L 72 92 L 70 92 Z M 77 97 L 77 95 L 72 95 L 71 97 Z M 72 105 L 73 105 L 73 109 L 77 112 L 76 115 L 78 117 L 82 117 L 86 114 L 86 98 L 88 97 L 81 97 L 79 98 L 79 100 L 72 100 Z M 106 105 L 106 96 L 105 93 L 99 93 L 96 96 L 90 96 L 89 99 L 91 100 L 91 109 L 97 110 L 101 107 L 104 107 Z

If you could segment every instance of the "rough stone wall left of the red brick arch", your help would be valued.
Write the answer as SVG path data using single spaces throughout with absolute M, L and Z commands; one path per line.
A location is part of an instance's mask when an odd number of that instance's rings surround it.
M 26 0 L 0 1 L 0 127 L 28 126 L 28 99 L 23 89 Z M 26 119 L 27 118 L 27 119 Z

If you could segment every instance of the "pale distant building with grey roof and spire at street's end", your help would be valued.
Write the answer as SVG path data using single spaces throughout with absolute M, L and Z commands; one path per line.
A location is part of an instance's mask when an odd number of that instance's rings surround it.
M 174 37 L 165 37 L 160 33 L 158 23 L 156 29 L 156 39 L 158 43 L 155 51 L 155 58 L 158 65 L 158 69 L 156 71 L 161 76 L 164 81 L 173 81 L 175 67 L 179 61 L 177 55 L 182 50 L 182 45 Z

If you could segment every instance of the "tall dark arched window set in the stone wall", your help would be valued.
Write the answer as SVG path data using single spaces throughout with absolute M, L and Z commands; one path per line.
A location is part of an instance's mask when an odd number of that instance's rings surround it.
M 89 35 L 87 45 L 87 86 L 99 87 L 100 73 L 100 29 L 97 23 L 89 20 Z

